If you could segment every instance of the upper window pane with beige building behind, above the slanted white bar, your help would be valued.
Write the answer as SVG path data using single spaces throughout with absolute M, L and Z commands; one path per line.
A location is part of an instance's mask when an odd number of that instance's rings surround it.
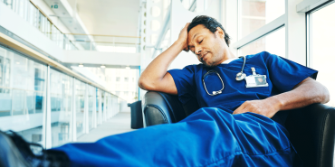
M 242 39 L 246 35 L 270 23 L 285 14 L 284 0 L 240 0 L 239 7 L 239 35 Z

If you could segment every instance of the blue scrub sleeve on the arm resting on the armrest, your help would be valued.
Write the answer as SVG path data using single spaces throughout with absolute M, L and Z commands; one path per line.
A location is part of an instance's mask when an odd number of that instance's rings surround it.
M 292 60 L 287 60 L 266 51 L 263 54 L 269 71 L 269 78 L 273 82 L 273 86 L 281 92 L 292 90 L 303 79 L 308 77 L 316 79 L 317 77 L 317 70 L 312 70 Z

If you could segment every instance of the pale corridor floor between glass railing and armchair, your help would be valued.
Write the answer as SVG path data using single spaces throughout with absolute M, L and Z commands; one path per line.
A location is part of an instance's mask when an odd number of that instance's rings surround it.
M 120 112 L 110 120 L 92 129 L 89 134 L 81 135 L 77 142 L 95 142 L 102 137 L 133 131 L 130 128 L 130 112 Z

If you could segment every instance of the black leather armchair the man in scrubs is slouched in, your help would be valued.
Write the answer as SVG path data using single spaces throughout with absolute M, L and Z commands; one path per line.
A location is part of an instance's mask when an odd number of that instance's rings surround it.
M 177 123 L 198 108 L 196 101 L 184 106 L 177 96 L 149 91 L 142 101 L 143 125 Z M 304 166 L 333 166 L 335 108 L 313 104 L 292 110 L 285 126 Z M 296 157 L 295 160 L 299 159 Z

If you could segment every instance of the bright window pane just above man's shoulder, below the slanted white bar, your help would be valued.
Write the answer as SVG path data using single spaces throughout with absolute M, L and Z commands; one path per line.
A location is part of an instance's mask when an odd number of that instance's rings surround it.
M 238 50 L 239 56 L 246 56 L 262 51 L 268 51 L 285 57 L 285 28 L 269 33 L 262 38 L 251 42 Z

